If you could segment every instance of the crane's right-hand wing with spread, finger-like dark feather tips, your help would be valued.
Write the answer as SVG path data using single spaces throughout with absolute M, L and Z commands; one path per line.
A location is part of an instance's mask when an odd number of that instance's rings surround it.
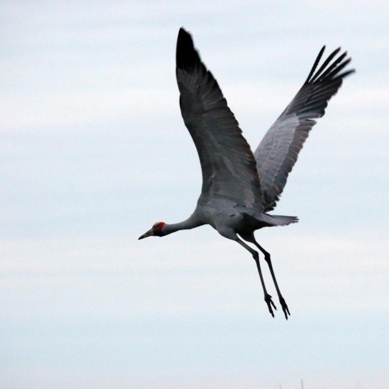
M 266 132 L 254 153 L 261 179 L 265 211 L 270 211 L 276 206 L 302 144 L 312 126 L 316 124 L 312 119 L 324 115 L 328 101 L 342 85 L 343 78 L 354 71 L 339 74 L 351 61 L 351 58 L 343 61 L 347 52 L 327 66 L 339 52 L 338 48 L 313 75 L 324 49 L 325 46 L 320 50 L 304 85 Z

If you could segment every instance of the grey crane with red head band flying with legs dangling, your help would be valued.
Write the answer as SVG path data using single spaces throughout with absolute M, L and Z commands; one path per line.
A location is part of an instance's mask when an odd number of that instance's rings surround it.
M 181 223 L 155 223 L 139 239 L 165 236 L 205 224 L 248 250 L 257 265 L 265 302 L 274 318 L 276 306 L 268 294 L 259 261 L 265 256 L 285 318 L 290 315 L 274 275 L 270 254 L 258 244 L 254 231 L 296 223 L 295 216 L 269 214 L 295 164 L 314 119 L 324 115 L 328 101 L 354 70 L 343 71 L 351 58 L 332 52 L 318 68 L 325 46 L 291 103 L 265 133 L 252 153 L 234 114 L 212 73 L 201 62 L 191 35 L 181 28 L 177 38 L 176 75 L 182 118 L 192 136 L 202 171 L 201 194 L 195 211 Z M 336 57 L 337 56 L 337 57 Z M 316 72 L 315 72 L 316 71 Z M 342 72 L 343 71 L 343 72 Z

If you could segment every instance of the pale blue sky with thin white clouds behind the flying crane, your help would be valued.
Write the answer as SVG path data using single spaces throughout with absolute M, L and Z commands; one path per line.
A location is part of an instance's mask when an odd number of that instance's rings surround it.
M 386 2 L 3 1 L 0 18 L 2 387 L 388 388 Z M 256 234 L 288 321 L 211 227 L 137 240 L 201 187 L 181 26 L 252 149 L 323 44 L 353 57 L 275 212 L 300 223 Z

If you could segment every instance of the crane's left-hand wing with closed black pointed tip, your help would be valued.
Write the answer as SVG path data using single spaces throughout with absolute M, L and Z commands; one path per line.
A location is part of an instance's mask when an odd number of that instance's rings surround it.
M 181 114 L 200 158 L 203 198 L 221 196 L 262 212 L 261 186 L 250 146 L 216 80 L 201 62 L 191 35 L 182 28 L 176 60 Z

